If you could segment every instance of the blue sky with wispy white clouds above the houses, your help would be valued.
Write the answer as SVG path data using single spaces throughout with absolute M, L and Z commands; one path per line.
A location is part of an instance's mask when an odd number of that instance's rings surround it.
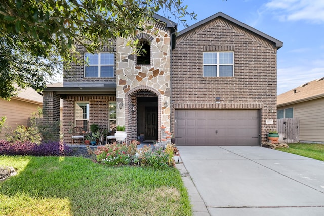
M 196 20 L 185 18 L 189 26 L 223 12 L 284 42 L 277 51 L 278 95 L 324 77 L 324 0 L 182 1 L 197 14 Z

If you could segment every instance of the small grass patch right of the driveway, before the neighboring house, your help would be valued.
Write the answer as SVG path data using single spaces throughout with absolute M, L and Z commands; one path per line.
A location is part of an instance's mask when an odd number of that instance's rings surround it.
M 278 148 L 277 150 L 324 161 L 324 144 L 290 143 L 288 145 L 289 148 Z

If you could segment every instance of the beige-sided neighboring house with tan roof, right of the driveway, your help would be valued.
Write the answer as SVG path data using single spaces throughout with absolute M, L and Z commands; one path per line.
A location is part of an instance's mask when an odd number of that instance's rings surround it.
M 324 77 L 277 96 L 277 118 L 299 119 L 299 141 L 324 143 Z

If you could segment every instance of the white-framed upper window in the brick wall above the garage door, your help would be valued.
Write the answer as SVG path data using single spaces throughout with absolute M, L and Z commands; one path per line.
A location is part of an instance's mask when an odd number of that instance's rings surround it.
M 234 52 L 204 52 L 204 77 L 234 76 Z

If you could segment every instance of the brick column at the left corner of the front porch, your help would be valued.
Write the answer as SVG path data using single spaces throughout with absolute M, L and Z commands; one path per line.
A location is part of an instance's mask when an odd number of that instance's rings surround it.
M 43 92 L 43 126 L 55 141 L 60 140 L 60 98 L 54 92 Z

